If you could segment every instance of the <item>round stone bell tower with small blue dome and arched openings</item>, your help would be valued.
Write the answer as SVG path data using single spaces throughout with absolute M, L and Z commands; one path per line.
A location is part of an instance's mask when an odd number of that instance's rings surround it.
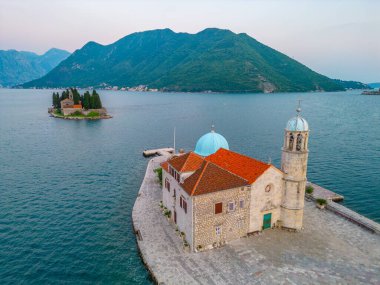
M 282 147 L 281 170 L 285 174 L 281 221 L 284 228 L 301 230 L 309 154 L 309 125 L 301 117 L 300 105 L 296 111 L 296 117 L 290 119 L 286 125 Z

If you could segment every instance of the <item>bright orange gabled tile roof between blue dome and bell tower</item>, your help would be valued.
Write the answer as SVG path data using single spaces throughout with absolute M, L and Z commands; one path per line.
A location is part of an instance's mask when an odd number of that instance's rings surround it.
M 220 148 L 214 154 L 207 156 L 205 160 L 246 179 L 249 184 L 255 182 L 257 178 L 271 167 L 270 164 L 224 148 Z

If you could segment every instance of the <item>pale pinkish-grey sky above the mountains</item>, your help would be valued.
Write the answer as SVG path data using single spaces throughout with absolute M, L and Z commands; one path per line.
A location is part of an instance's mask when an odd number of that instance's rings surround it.
M 3 50 L 73 52 L 208 27 L 247 33 L 331 78 L 380 82 L 380 0 L 0 0 Z

